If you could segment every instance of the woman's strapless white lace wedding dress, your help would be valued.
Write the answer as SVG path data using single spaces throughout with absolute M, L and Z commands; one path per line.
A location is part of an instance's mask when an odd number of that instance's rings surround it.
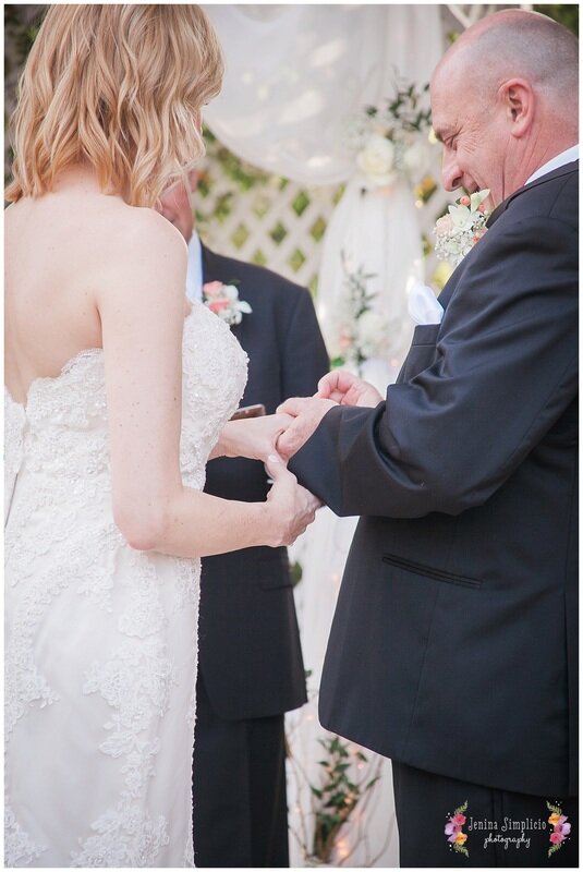
M 189 487 L 245 379 L 229 328 L 195 303 Z M 193 865 L 201 565 L 134 550 L 113 522 L 100 349 L 36 379 L 26 408 L 5 391 L 5 863 Z

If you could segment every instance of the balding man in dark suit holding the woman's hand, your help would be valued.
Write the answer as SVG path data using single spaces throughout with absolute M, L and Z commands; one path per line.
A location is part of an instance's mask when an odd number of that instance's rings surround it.
M 578 862 L 576 65 L 519 10 L 448 50 L 444 184 L 490 190 L 488 230 L 386 400 L 332 373 L 282 407 L 299 480 L 363 516 L 320 719 L 392 759 L 404 867 Z

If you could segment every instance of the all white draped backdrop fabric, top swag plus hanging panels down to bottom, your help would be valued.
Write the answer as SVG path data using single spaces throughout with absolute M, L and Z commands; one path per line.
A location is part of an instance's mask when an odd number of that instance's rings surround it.
M 409 347 L 413 325 L 406 290 L 423 280 L 417 210 L 405 182 L 361 193 L 348 130 L 368 105 L 392 97 L 399 78 L 423 86 L 442 52 L 438 5 L 207 5 L 226 56 L 221 95 L 205 109 L 215 135 L 239 157 L 306 186 L 347 184 L 328 225 L 318 279 L 317 310 L 329 351 L 345 294 L 342 256 L 350 271 L 372 274 L 373 311 L 387 320 L 382 359 L 362 374 L 384 392 Z M 288 716 L 291 760 L 291 864 L 311 850 L 313 801 L 323 767 L 317 688 L 330 622 L 355 519 L 323 509 L 293 554 L 303 566 L 296 589 L 312 699 Z M 351 815 L 338 841 L 338 865 L 394 867 L 398 839 L 390 763 L 367 753 L 380 780 Z

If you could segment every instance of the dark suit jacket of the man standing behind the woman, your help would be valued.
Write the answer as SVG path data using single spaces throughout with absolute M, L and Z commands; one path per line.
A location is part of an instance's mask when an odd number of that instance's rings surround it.
M 238 280 L 253 312 L 232 328 L 250 358 L 242 405 L 267 413 L 288 397 L 314 393 L 328 355 L 309 292 L 252 264 L 203 246 L 203 280 Z M 265 500 L 263 463 L 212 460 L 205 491 Z M 203 560 L 199 669 L 216 712 L 238 719 L 281 714 L 306 700 L 305 675 L 286 548 L 245 548 Z

